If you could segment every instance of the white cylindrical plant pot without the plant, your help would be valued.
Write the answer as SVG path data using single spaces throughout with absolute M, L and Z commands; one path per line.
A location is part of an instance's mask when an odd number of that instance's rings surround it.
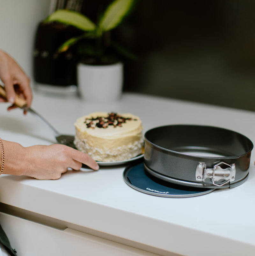
M 105 66 L 78 64 L 78 90 L 86 101 L 109 102 L 121 97 L 123 64 Z

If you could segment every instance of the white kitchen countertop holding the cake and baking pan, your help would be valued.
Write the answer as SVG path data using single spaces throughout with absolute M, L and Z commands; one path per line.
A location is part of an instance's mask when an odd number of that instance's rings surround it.
M 0 104 L 4 140 L 23 146 L 55 142 L 51 130 L 30 113 L 6 108 Z M 168 124 L 212 125 L 242 133 L 255 144 L 255 113 L 237 109 L 129 93 L 109 104 L 35 94 L 33 108 L 67 134 L 75 133 L 73 124 L 82 115 L 115 111 L 140 116 L 144 132 Z M 253 150 L 249 178 L 240 186 L 192 198 L 136 191 L 123 180 L 125 166 L 117 166 L 69 171 L 55 181 L 1 175 L 0 201 L 181 255 L 254 255 L 254 159 Z

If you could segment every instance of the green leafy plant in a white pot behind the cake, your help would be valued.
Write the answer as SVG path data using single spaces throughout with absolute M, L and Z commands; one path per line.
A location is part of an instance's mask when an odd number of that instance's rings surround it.
M 76 46 L 79 63 L 77 64 L 78 89 L 86 100 L 116 100 L 120 98 L 123 83 L 123 63 L 119 56 L 135 58 L 111 38 L 111 30 L 116 28 L 131 12 L 135 0 L 114 0 L 99 15 L 97 23 L 85 15 L 57 10 L 46 22 L 60 22 L 76 27 L 81 34 L 70 38 L 59 47 L 66 51 Z

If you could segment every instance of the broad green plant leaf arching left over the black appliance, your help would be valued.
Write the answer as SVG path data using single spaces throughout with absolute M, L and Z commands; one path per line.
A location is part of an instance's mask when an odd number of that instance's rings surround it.
M 48 16 L 45 21 L 58 21 L 67 25 L 72 25 L 84 31 L 92 31 L 96 29 L 96 25 L 86 16 L 79 12 L 69 10 L 57 10 Z

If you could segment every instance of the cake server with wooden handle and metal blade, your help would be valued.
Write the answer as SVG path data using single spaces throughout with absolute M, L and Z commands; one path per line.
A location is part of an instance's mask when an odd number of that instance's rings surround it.
M 6 98 L 6 92 L 4 87 L 0 86 L 0 96 L 2 96 L 4 99 Z M 60 144 L 64 144 L 67 145 L 69 147 L 72 148 L 76 148 L 74 145 L 74 136 L 72 135 L 63 135 L 60 134 L 45 118 L 43 118 L 38 112 L 36 112 L 35 110 L 33 110 L 32 108 L 28 108 L 27 107 L 27 102 L 25 99 L 19 97 L 18 95 L 16 95 L 16 99 L 15 99 L 15 105 L 18 106 L 21 109 L 24 109 L 28 112 L 30 112 L 31 114 L 33 114 L 35 117 L 37 117 L 39 120 L 41 120 L 44 124 L 46 124 L 54 133 L 56 141 Z

